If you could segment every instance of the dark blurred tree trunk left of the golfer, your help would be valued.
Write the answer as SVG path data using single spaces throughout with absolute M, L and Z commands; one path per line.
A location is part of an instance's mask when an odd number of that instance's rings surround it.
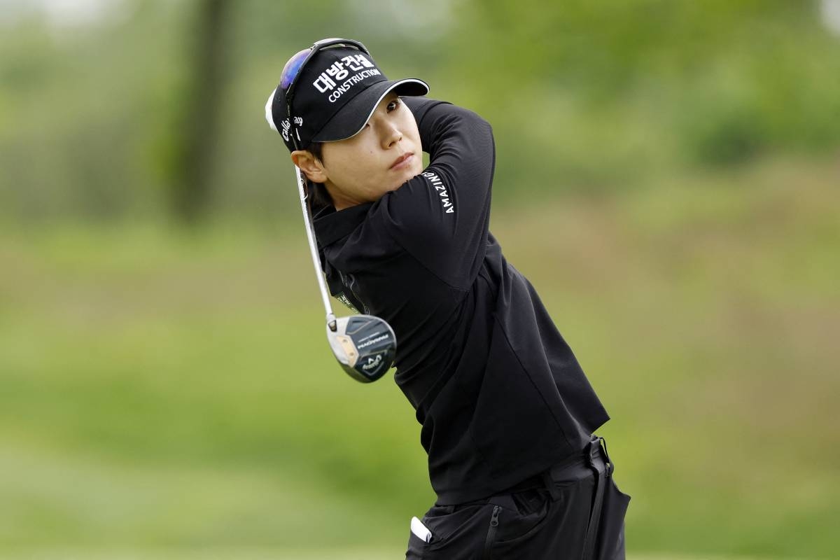
M 171 146 L 171 211 L 181 222 L 195 224 L 207 212 L 218 122 L 225 81 L 224 38 L 231 4 L 197 0 L 192 52 L 186 68 L 184 97 L 176 103 L 176 139 Z

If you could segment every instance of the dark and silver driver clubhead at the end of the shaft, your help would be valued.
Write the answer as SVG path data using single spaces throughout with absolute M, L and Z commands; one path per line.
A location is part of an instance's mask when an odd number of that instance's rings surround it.
M 381 378 L 396 355 L 391 325 L 372 315 L 339 317 L 336 323 L 335 332 L 327 326 L 327 340 L 344 371 L 362 383 Z

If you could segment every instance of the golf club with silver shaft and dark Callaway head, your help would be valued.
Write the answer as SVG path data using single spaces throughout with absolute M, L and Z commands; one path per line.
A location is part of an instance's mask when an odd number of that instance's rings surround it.
M 370 383 L 381 378 L 394 362 L 396 355 L 394 329 L 385 320 L 372 315 L 351 315 L 337 319 L 333 314 L 333 306 L 329 301 L 327 284 L 323 278 L 321 260 L 318 259 L 318 249 L 315 245 L 312 216 L 307 207 L 306 180 L 297 165 L 295 165 L 295 175 L 297 176 L 297 190 L 301 196 L 303 223 L 307 228 L 312 265 L 318 277 L 324 311 L 327 312 L 329 348 L 333 350 L 335 359 L 350 377 L 362 383 Z

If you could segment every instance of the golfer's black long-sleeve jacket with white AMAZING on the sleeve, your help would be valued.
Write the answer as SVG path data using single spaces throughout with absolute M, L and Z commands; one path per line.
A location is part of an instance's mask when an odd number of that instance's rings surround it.
M 438 504 L 458 504 L 578 453 L 609 416 L 488 230 L 490 125 L 446 102 L 403 102 L 428 168 L 314 223 L 333 295 L 394 328 L 394 379 L 423 426 Z

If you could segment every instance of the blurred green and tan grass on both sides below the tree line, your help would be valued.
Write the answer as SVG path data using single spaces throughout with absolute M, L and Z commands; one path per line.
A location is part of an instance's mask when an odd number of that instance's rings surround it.
M 494 212 L 612 415 L 631 552 L 836 557 L 838 172 Z M 0 556 L 402 553 L 417 423 L 333 364 L 298 228 L 3 232 Z

